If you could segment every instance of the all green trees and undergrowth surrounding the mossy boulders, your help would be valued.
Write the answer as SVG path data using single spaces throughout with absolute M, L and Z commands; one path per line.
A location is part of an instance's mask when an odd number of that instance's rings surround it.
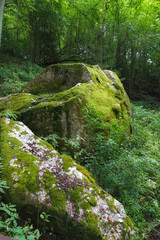
M 130 136 L 113 125 L 110 138 L 103 136 L 93 112 L 88 127 L 99 132 L 90 133 L 90 151 L 75 139 L 64 139 L 64 149 L 55 135 L 44 140 L 84 165 L 124 205 L 137 230 L 132 240 L 160 239 L 159 0 L 0 0 L 0 16 L 2 2 L 0 97 L 20 92 L 52 63 L 98 64 L 118 74 L 131 99 Z M 3 116 L 16 119 L 9 111 Z M 0 175 L 0 200 L 6 187 Z M 16 206 L 0 203 L 1 234 L 58 239 L 47 228 L 47 213 L 33 227 L 18 214 Z

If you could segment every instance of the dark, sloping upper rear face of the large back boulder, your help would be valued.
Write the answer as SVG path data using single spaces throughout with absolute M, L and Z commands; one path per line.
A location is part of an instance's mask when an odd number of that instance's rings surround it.
M 87 82 L 91 79 L 85 64 L 54 64 L 33 79 L 23 92 L 33 94 L 61 92 L 77 83 Z

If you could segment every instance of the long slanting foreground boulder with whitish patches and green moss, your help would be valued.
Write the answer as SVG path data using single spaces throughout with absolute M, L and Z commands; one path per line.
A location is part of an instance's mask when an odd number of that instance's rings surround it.
M 123 206 L 98 187 L 82 166 L 60 155 L 22 122 L 0 121 L 5 194 L 24 214 L 37 220 L 51 215 L 54 232 L 77 240 L 130 239 L 134 234 Z

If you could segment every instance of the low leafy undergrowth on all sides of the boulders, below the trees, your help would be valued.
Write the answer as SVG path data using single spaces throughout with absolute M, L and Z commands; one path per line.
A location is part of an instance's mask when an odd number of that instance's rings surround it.
M 21 91 L 40 71 L 40 67 L 30 62 L 2 59 L 0 96 Z M 96 113 L 94 108 L 84 110 L 83 114 L 86 116 L 89 144 L 84 139 L 60 139 L 56 135 L 49 135 L 44 140 L 84 165 L 98 183 L 125 206 L 137 228 L 132 240 L 160 239 L 159 104 L 148 97 L 143 101 L 132 102 L 130 136 L 118 122 L 109 125 L 102 121 L 100 113 Z M 5 116 L 16 119 L 9 111 Z M 79 142 L 83 144 L 80 145 Z M 82 147 L 85 145 L 87 148 Z M 6 183 L 0 179 L 1 195 L 6 187 Z M 8 236 L 13 237 L 16 234 L 13 231 L 20 231 L 22 238 L 18 239 L 38 239 L 38 231 L 32 231 L 29 225 L 19 227 L 15 206 L 1 203 L 0 215 L 0 231 L 4 235 L 9 233 Z M 47 221 L 46 218 L 45 222 Z M 42 233 L 45 228 L 44 224 Z M 25 235 L 29 232 L 33 234 Z

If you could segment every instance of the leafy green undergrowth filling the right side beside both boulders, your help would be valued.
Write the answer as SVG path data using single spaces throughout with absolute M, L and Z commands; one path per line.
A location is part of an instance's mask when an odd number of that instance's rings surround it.
M 133 101 L 132 134 L 128 136 L 118 122 L 108 125 L 90 108 L 84 111 L 90 135 L 87 151 L 78 142 L 71 145 L 72 157 L 125 206 L 137 228 L 134 240 L 152 239 L 160 224 L 159 110 L 152 98 Z

